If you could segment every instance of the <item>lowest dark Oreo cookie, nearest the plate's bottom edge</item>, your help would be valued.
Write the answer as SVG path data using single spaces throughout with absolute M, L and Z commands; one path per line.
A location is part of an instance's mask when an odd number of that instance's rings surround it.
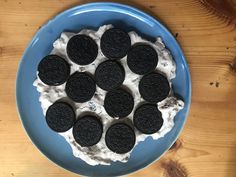
M 135 133 L 130 126 L 124 123 L 117 123 L 108 128 L 105 142 L 111 151 L 124 154 L 131 151 L 134 147 Z

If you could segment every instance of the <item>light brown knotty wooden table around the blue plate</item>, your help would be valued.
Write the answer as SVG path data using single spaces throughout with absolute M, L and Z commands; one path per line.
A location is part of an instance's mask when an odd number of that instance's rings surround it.
M 57 13 L 85 0 L 0 0 L 0 176 L 77 176 L 45 158 L 16 111 L 15 78 L 35 32 Z M 125 3 L 126 0 L 118 2 Z M 190 67 L 190 115 L 175 145 L 130 177 L 236 176 L 236 1 L 130 0 L 162 21 Z

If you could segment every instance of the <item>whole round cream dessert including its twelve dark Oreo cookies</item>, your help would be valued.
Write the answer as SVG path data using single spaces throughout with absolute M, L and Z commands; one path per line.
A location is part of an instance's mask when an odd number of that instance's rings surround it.
M 127 162 L 139 142 L 173 128 L 184 102 L 174 97 L 176 65 L 160 37 L 152 43 L 104 25 L 63 32 L 53 47 L 33 85 L 49 127 L 75 157 L 90 165 Z

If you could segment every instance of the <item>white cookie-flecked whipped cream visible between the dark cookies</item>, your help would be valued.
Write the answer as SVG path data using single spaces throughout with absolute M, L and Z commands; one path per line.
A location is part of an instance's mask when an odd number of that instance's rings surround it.
M 54 48 L 51 51 L 51 54 L 56 54 L 66 59 L 67 62 L 70 64 L 71 74 L 76 71 L 94 74 L 97 66 L 101 62 L 107 60 L 107 58 L 101 52 L 100 39 L 102 34 L 110 28 L 113 28 L 113 26 L 104 25 L 101 26 L 97 31 L 83 29 L 79 33 L 63 32 L 61 33 L 61 36 L 53 43 Z M 69 39 L 76 34 L 85 34 L 90 36 L 95 40 L 95 42 L 99 46 L 98 56 L 93 63 L 86 66 L 80 66 L 69 60 L 66 53 L 66 45 Z M 159 60 L 155 70 L 164 74 L 167 77 L 171 86 L 171 79 L 175 78 L 176 64 L 172 58 L 170 51 L 165 48 L 162 39 L 160 37 L 157 37 L 156 42 L 152 43 L 141 38 L 134 31 L 129 32 L 129 36 L 131 39 L 131 44 L 137 42 L 147 43 L 156 50 L 156 52 L 158 53 Z M 40 78 L 38 77 L 38 73 L 37 79 L 33 83 L 33 85 L 37 88 L 37 91 L 40 93 L 39 101 L 41 102 L 41 107 L 44 115 L 46 114 L 46 111 L 50 105 L 52 105 L 58 100 L 63 100 L 70 103 L 75 108 L 77 117 L 81 117 L 89 112 L 90 114 L 92 113 L 101 119 L 103 123 L 102 138 L 96 145 L 91 147 L 81 147 L 78 143 L 76 143 L 72 134 L 72 128 L 66 132 L 58 133 L 59 136 L 63 136 L 65 140 L 70 144 L 73 155 L 82 159 L 90 165 L 110 165 L 113 161 L 127 162 L 132 152 L 131 150 L 130 152 L 125 154 L 117 154 L 109 150 L 105 144 L 105 132 L 110 127 L 110 125 L 121 121 L 132 125 L 132 119 L 135 109 L 141 103 L 145 103 L 143 98 L 141 98 L 141 95 L 138 90 L 138 84 L 142 76 L 133 73 L 128 68 L 126 60 L 127 58 L 124 57 L 119 62 L 124 67 L 126 73 L 123 85 L 132 91 L 131 94 L 134 97 L 134 109 L 127 116 L 127 118 L 120 120 L 118 118 L 112 118 L 106 113 L 103 107 L 106 91 L 99 88 L 98 86 L 96 86 L 96 92 L 90 101 L 85 103 L 75 103 L 67 97 L 65 92 L 65 84 L 59 86 L 48 86 L 40 80 Z M 171 89 L 169 96 L 163 101 L 157 103 L 157 107 L 162 113 L 162 117 L 164 120 L 163 126 L 158 132 L 151 135 L 145 135 L 134 128 L 136 134 L 135 146 L 138 145 L 139 142 L 144 141 L 149 136 L 151 136 L 154 140 L 164 137 L 164 135 L 167 134 L 173 128 L 174 117 L 179 112 L 179 110 L 183 109 L 184 102 L 175 98 Z

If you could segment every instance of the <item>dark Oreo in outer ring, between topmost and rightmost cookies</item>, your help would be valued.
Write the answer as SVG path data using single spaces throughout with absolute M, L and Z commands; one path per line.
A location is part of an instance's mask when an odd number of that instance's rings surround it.
M 137 43 L 131 47 L 127 55 L 127 64 L 131 71 L 144 75 L 154 71 L 158 63 L 155 49 L 148 44 Z

